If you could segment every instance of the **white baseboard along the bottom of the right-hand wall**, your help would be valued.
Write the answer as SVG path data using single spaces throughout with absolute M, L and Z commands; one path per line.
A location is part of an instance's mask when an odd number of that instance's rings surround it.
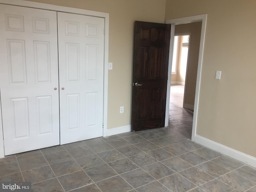
M 199 135 L 195 136 L 195 142 L 256 168 L 256 158 L 253 156 L 234 150 Z

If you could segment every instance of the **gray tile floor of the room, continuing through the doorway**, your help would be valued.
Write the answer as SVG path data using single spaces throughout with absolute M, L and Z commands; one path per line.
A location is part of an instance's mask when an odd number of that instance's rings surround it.
M 171 92 L 168 127 L 7 156 L 0 181 L 34 192 L 256 192 L 256 169 L 190 141 L 193 114 L 182 86 Z

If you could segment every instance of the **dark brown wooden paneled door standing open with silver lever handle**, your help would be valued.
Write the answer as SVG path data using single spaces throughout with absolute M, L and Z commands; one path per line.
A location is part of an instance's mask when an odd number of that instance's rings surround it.
M 170 24 L 135 22 L 133 131 L 164 127 L 170 30 Z

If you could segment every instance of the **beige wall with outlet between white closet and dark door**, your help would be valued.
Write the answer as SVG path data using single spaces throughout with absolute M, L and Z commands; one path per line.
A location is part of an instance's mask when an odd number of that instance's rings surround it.
M 30 0 L 110 14 L 108 128 L 130 125 L 133 26 L 135 20 L 165 22 L 166 0 Z M 124 113 L 119 113 L 124 106 Z

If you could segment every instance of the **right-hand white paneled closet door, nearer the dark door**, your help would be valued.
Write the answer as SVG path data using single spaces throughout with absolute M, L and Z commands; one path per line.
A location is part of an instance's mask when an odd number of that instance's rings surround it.
M 58 12 L 60 144 L 103 136 L 104 18 Z

